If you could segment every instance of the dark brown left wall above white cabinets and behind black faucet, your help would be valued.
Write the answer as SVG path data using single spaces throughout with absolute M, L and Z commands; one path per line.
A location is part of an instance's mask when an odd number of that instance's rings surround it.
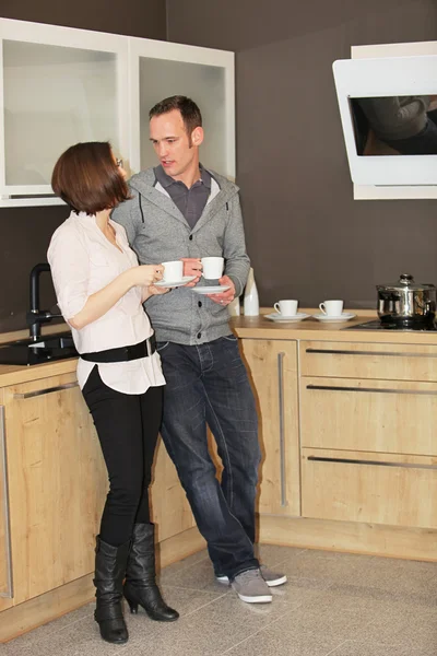
M 165 0 L 2 0 L 0 17 L 165 39 Z M 66 207 L 0 209 L 0 332 L 25 326 L 28 273 L 47 261 L 51 234 L 66 219 Z M 42 277 L 42 306 L 55 304 L 49 276 Z

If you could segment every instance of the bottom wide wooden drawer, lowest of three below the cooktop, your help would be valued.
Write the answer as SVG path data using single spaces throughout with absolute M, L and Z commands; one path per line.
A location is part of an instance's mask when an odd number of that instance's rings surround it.
M 303 449 L 304 517 L 437 528 L 437 459 Z

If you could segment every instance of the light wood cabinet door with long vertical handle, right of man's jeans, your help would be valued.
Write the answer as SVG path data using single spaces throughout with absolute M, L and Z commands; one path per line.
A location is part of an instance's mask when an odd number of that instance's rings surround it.
M 260 513 L 299 515 L 297 342 L 243 339 L 258 406 Z

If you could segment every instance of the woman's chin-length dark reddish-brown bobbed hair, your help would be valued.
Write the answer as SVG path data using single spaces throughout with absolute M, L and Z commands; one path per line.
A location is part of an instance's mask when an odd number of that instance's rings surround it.
M 76 143 L 57 161 L 51 187 L 75 212 L 95 214 L 128 200 L 128 185 L 108 141 Z

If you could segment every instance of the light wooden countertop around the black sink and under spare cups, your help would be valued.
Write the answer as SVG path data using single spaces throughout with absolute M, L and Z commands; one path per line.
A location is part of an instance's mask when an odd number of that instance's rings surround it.
M 395 331 L 395 330 L 344 330 L 344 328 L 371 321 L 376 318 L 376 312 L 351 311 L 356 318 L 339 324 L 322 324 L 317 319 L 308 318 L 297 324 L 274 324 L 263 315 L 272 312 L 271 308 L 262 308 L 257 317 L 232 317 L 231 328 L 239 338 L 245 339 L 270 339 L 270 340 L 308 340 L 308 341 L 335 341 L 335 342 L 363 342 L 363 343 L 392 343 L 392 344 L 423 344 L 437 347 L 437 332 L 420 331 Z M 302 312 L 316 314 L 315 308 L 303 308 Z M 54 335 L 68 330 L 67 324 L 46 326 L 43 335 Z M 28 336 L 27 330 L 7 332 L 0 335 L 0 343 L 24 339 Z M 0 365 L 0 387 L 40 380 L 50 376 L 74 373 L 78 360 L 58 360 L 36 366 Z

